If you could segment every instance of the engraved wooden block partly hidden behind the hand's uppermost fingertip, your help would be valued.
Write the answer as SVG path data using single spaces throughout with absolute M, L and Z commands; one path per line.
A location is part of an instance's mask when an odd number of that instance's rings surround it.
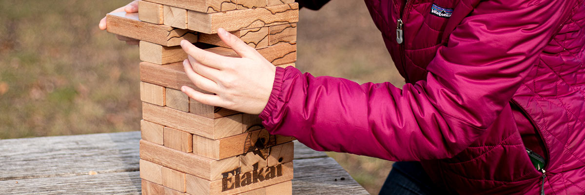
M 269 28 L 254 28 L 254 29 L 245 29 L 245 30 L 236 30 L 231 32 L 233 35 L 242 39 L 250 47 L 254 47 L 256 49 L 267 47 L 269 43 Z M 221 39 L 219 39 L 218 34 L 205 34 L 199 33 L 198 42 L 208 43 L 211 45 L 222 46 L 222 47 L 229 47 Z

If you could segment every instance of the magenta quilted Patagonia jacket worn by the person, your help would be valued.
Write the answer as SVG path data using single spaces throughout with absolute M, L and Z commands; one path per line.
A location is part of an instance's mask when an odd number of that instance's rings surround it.
M 366 0 L 407 84 L 278 68 L 260 117 L 316 150 L 419 160 L 452 193 L 585 194 L 584 1 Z

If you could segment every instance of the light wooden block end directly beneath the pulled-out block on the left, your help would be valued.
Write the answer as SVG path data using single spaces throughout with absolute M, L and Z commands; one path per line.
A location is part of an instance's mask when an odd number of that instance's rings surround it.
M 141 40 L 139 48 L 140 60 L 150 63 L 170 64 L 187 59 L 181 46 L 166 47 Z

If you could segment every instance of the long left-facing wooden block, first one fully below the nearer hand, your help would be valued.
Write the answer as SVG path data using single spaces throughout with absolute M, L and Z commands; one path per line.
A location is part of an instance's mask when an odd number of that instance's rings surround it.
M 211 119 L 146 102 L 142 104 L 142 118 L 211 139 L 242 134 L 245 126 L 242 124 L 242 114 Z

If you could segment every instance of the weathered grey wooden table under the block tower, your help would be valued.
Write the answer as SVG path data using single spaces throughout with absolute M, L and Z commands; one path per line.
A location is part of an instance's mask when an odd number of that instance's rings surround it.
M 0 140 L 0 194 L 140 194 L 140 132 Z M 368 194 L 295 141 L 293 194 Z

